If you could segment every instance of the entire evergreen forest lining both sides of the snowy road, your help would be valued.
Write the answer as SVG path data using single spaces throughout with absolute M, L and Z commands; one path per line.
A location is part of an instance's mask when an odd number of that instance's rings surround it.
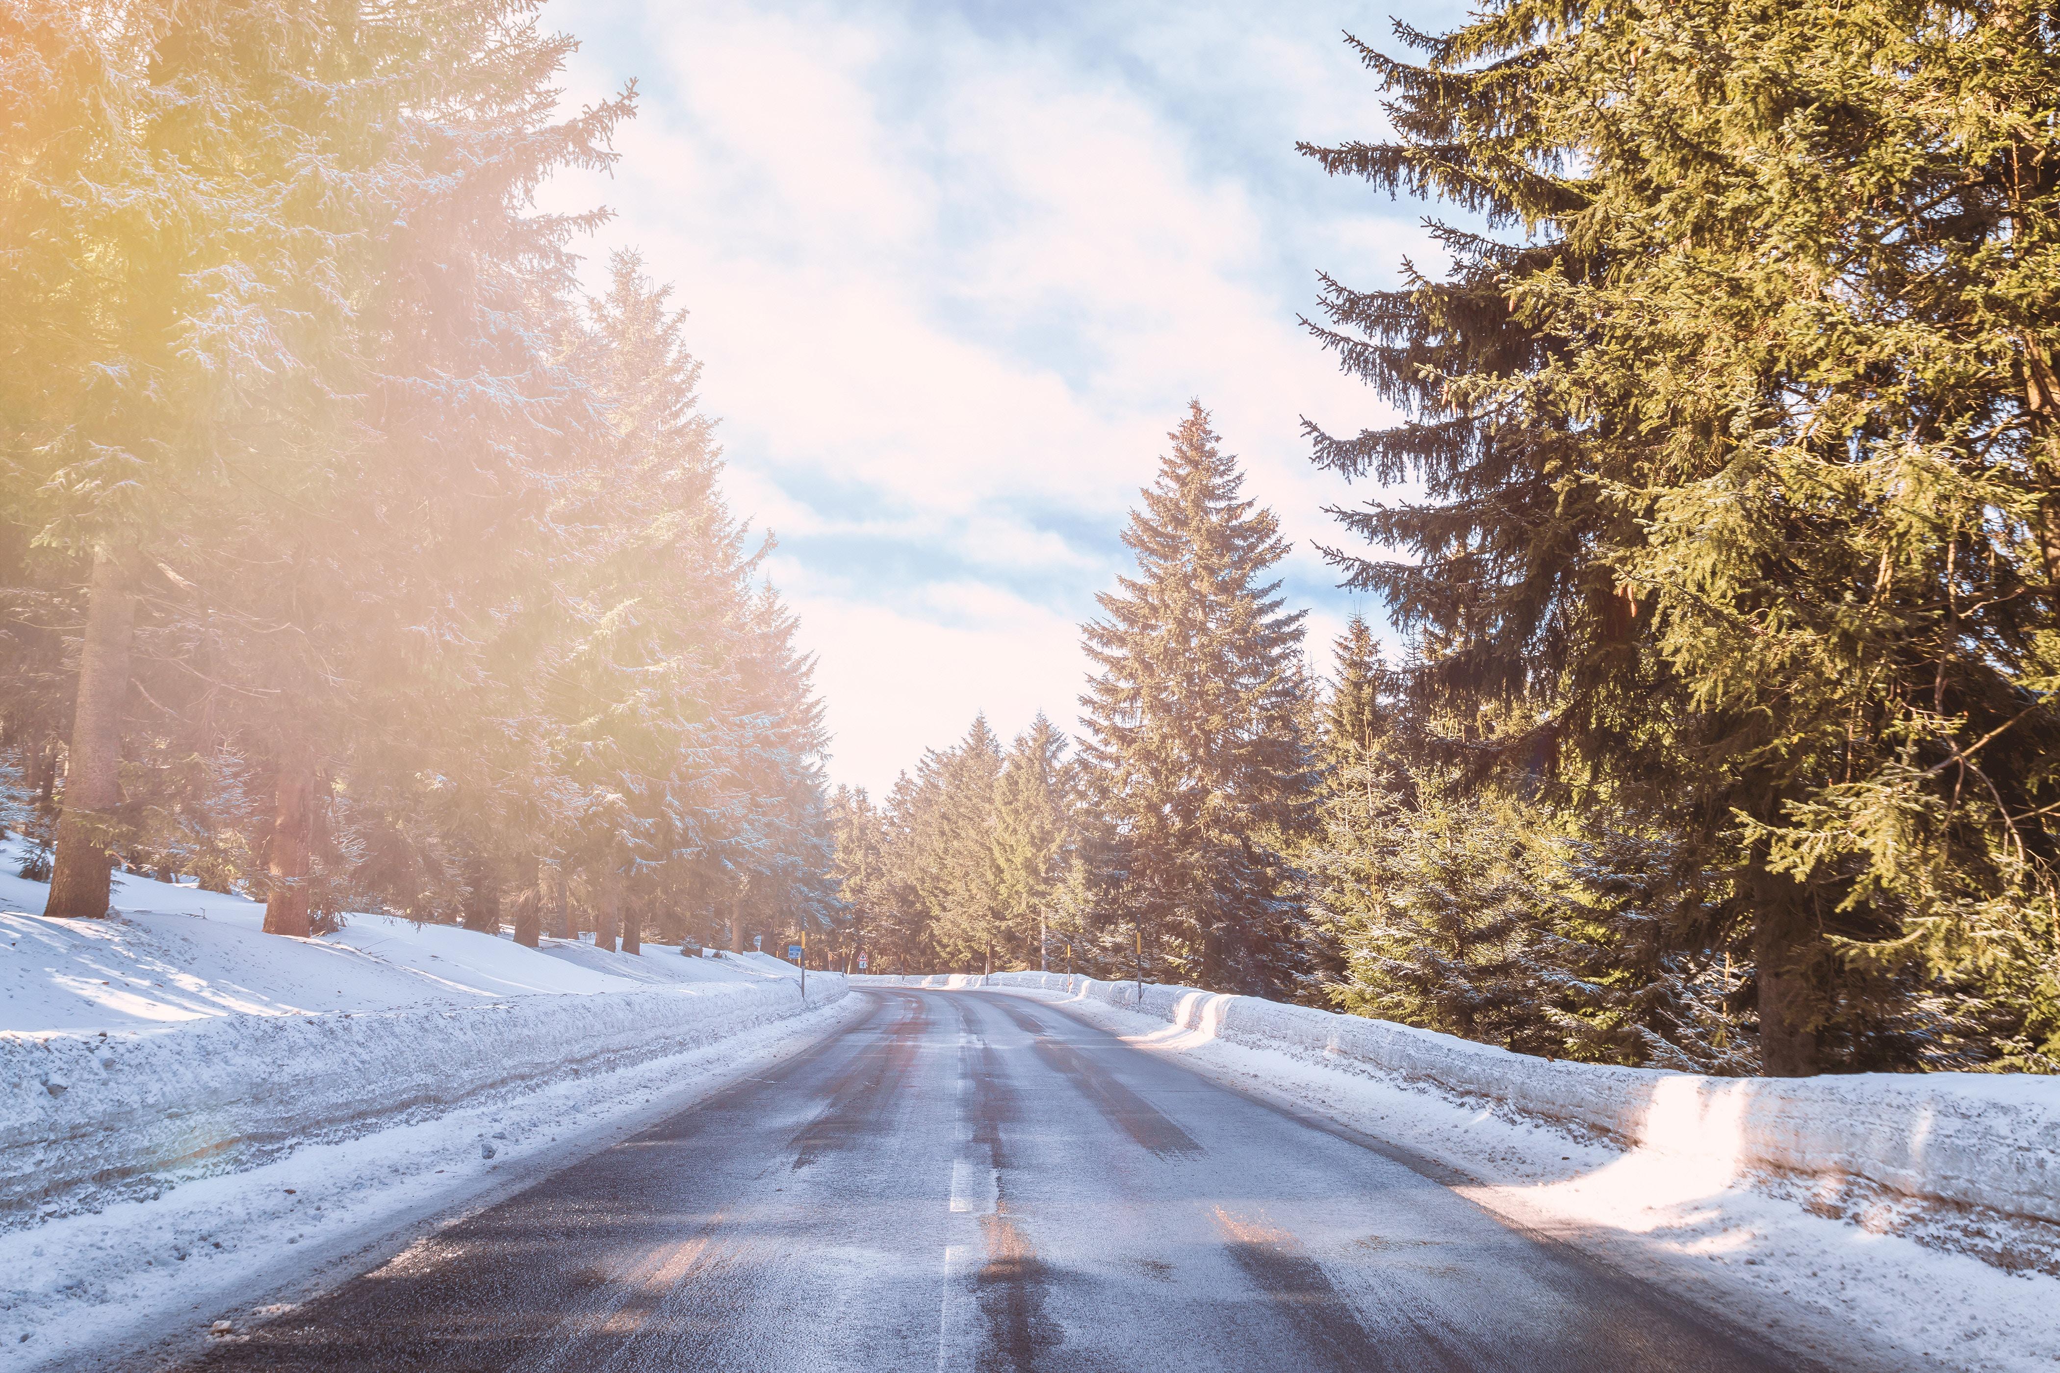
M 0 801 L 187 875 L 818 967 L 1143 978 L 1714 1075 L 2060 1068 L 2060 31 L 1487 0 L 1304 144 L 1337 580 L 1203 399 L 1063 712 L 832 786 L 682 303 L 579 276 L 534 0 L 0 4 Z M 1292 150 L 1283 148 L 1283 159 Z M 1310 263 L 1325 268 L 1327 263 Z M 1236 436 L 1232 436 L 1236 438 Z M 1139 471 L 1152 459 L 1139 453 Z

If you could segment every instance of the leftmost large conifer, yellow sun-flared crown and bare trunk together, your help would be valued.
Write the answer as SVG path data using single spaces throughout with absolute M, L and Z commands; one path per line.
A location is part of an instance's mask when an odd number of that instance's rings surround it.
M 119 815 L 138 597 L 258 486 L 303 490 L 325 447 L 360 226 L 354 128 L 325 97 L 334 33 L 295 6 L 21 6 L 4 200 L 25 379 L 10 502 L 91 564 L 49 914 L 101 916 Z M 29 89 L 16 84 L 27 78 Z M 31 152 L 23 148 L 23 152 Z M 317 187 L 334 187 L 336 193 Z M 25 237 L 14 237 L 25 235 Z M 10 253 L 12 255 L 12 253 Z M 12 368 L 10 368 L 12 371 Z

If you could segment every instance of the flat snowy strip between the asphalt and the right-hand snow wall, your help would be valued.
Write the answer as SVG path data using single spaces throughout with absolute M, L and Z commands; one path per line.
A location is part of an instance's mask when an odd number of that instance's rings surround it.
M 2060 1278 L 1881 1233 L 1796 1182 L 1623 1149 L 1423 1083 L 1250 1048 L 1209 1027 L 1051 990 L 1009 988 L 1176 1056 L 1248 1095 L 1399 1149 L 1526 1231 L 1564 1239 L 1683 1301 L 1745 1317 L 1838 1365 L 2050 1373 Z M 1864 1221 L 1864 1217 L 1862 1217 Z

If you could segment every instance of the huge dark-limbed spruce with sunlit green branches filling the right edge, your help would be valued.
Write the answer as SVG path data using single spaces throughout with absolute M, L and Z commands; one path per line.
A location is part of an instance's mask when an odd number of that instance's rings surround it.
M 1448 280 L 1327 280 L 1349 371 L 1413 420 L 1316 459 L 1417 480 L 1339 556 L 1452 708 L 1446 758 L 1638 817 L 1714 875 L 1767 1072 L 1912 1066 L 2050 974 L 2060 175 L 2050 25 L 2006 4 L 1491 4 L 1360 47 L 1442 196 Z M 2027 167 L 2037 171 L 2027 173 Z M 1951 1019 L 1951 1017 L 1949 1017 Z M 1953 1031 L 1957 1033 L 1957 1031 Z

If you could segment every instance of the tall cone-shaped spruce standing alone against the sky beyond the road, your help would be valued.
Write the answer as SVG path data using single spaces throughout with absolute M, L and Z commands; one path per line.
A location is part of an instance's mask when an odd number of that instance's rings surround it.
M 1195 401 L 1123 541 L 1137 576 L 1084 626 L 1082 696 L 1098 807 L 1119 834 L 1119 902 L 1164 976 L 1283 994 L 1306 963 L 1281 836 L 1312 782 L 1302 611 L 1283 611 L 1279 523 L 1244 500 Z

